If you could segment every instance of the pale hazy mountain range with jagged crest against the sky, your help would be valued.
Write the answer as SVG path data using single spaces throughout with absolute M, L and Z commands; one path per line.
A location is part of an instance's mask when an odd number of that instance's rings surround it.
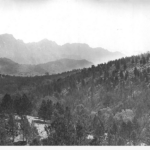
M 59 59 L 86 59 L 94 64 L 123 57 L 119 52 L 109 52 L 103 48 L 91 48 L 87 44 L 57 45 L 44 39 L 39 42 L 24 43 L 10 34 L 0 35 L 0 56 L 19 64 L 41 64 Z

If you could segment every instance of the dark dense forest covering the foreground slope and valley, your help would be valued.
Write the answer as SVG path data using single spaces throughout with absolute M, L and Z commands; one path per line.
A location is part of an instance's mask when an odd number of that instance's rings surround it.
M 56 75 L 1 74 L 0 100 L 1 145 L 150 145 L 150 53 Z

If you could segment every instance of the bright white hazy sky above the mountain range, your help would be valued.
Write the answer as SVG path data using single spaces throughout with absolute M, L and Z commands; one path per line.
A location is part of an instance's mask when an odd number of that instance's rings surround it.
M 3 33 L 137 54 L 150 50 L 150 0 L 0 0 Z

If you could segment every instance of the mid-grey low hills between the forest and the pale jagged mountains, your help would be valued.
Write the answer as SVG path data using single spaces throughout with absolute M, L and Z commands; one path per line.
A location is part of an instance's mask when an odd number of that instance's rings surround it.
M 44 75 L 87 68 L 92 65 L 86 60 L 60 59 L 38 65 L 18 64 L 7 58 L 0 58 L 0 73 L 9 75 Z

